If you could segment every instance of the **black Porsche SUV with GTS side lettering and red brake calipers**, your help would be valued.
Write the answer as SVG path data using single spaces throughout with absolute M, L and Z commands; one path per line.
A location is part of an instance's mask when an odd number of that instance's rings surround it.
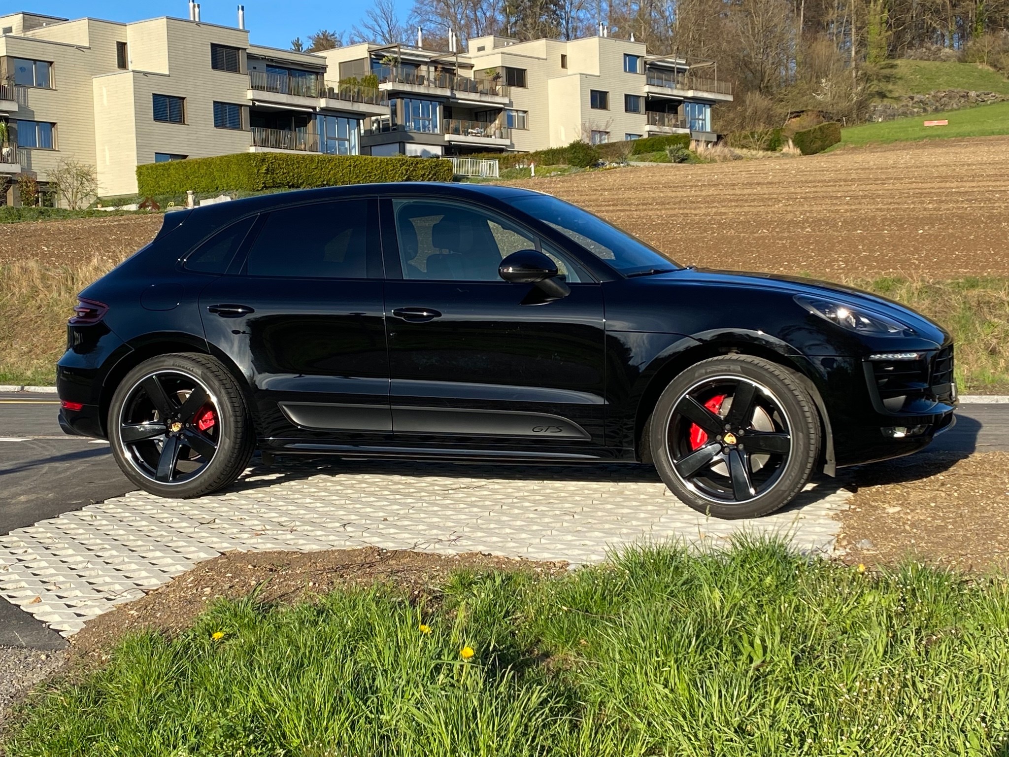
M 719 518 L 921 449 L 957 403 L 949 336 L 896 303 L 682 267 L 549 195 L 445 184 L 166 214 L 81 293 L 58 384 L 64 429 L 164 497 L 257 448 L 651 462 Z

